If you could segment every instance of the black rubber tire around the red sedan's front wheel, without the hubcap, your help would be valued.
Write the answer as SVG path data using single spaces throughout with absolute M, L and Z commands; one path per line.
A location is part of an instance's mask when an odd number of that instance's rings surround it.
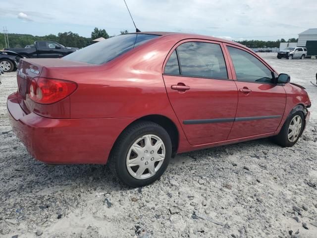
M 288 139 L 288 130 L 289 130 L 289 125 L 292 121 L 292 119 L 295 117 L 295 116 L 300 116 L 301 119 L 302 119 L 302 127 L 301 127 L 301 130 L 300 130 L 300 134 L 299 136 L 297 137 L 297 139 L 293 142 L 289 141 Z M 283 147 L 291 147 L 293 145 L 296 144 L 296 142 L 298 141 L 299 137 L 302 135 L 303 133 L 303 128 L 304 128 L 304 123 L 305 123 L 305 119 L 304 119 L 304 114 L 303 112 L 301 111 L 297 111 L 295 113 L 292 113 L 289 115 L 289 117 L 286 119 L 286 121 L 284 122 L 284 125 L 281 129 L 281 131 L 278 133 L 278 135 L 274 136 L 272 139 L 273 141 L 280 145 L 280 146 L 283 146 Z

